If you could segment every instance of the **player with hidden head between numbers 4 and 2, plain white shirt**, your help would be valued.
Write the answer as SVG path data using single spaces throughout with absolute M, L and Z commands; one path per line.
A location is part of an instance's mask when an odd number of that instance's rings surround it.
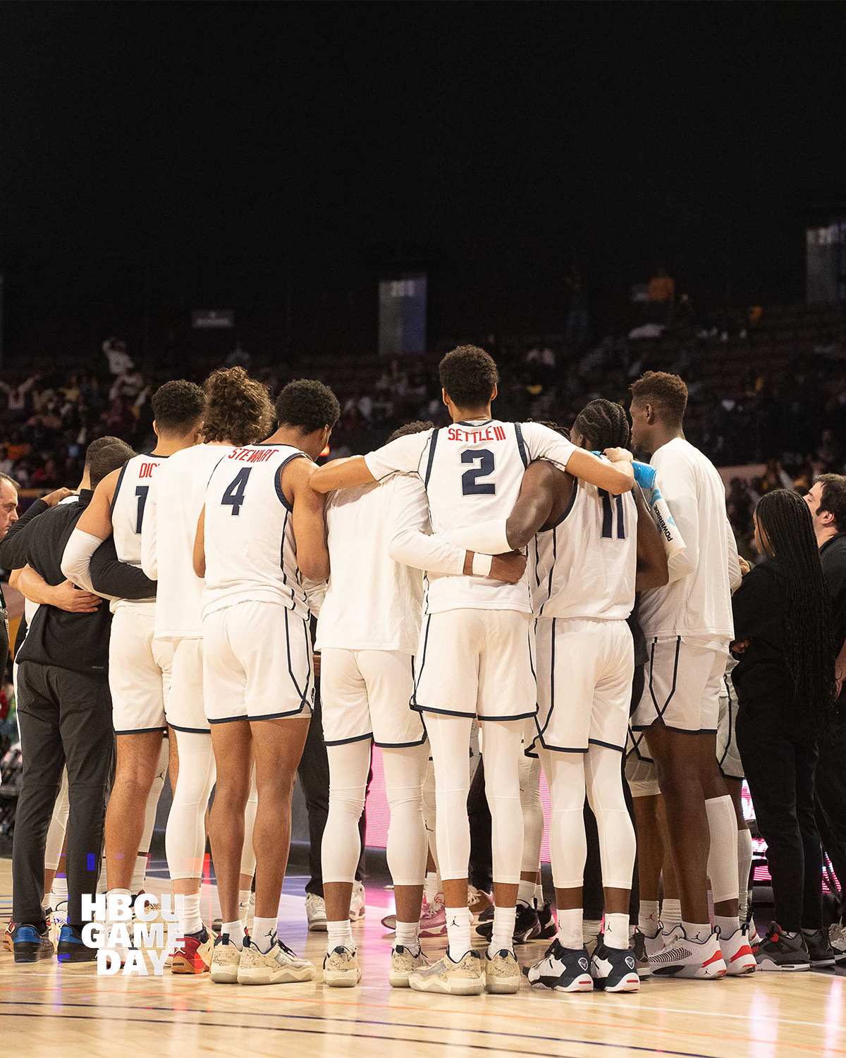
M 430 422 L 412 422 L 389 442 L 431 428 Z M 393 561 L 390 543 L 398 528 L 419 530 L 412 534 L 416 564 L 429 576 L 472 574 L 474 559 L 464 548 L 426 535 L 428 522 L 425 490 L 419 478 L 408 475 L 396 474 L 383 486 L 334 493 L 326 505 L 332 576 L 317 623 L 317 645 L 330 778 L 323 840 L 328 918 L 324 982 L 333 987 L 353 986 L 362 978 L 349 908 L 371 743 L 382 749 L 390 808 L 387 856 L 397 901 L 391 986 L 408 987 L 413 970 L 428 965 L 420 948 L 426 870 L 422 787 L 428 747 L 420 714 L 408 708 L 423 577 L 419 569 Z M 494 563 L 492 572 L 502 580 L 518 580 L 526 566 L 522 555 Z M 366 621 L 362 615 L 367 615 Z

